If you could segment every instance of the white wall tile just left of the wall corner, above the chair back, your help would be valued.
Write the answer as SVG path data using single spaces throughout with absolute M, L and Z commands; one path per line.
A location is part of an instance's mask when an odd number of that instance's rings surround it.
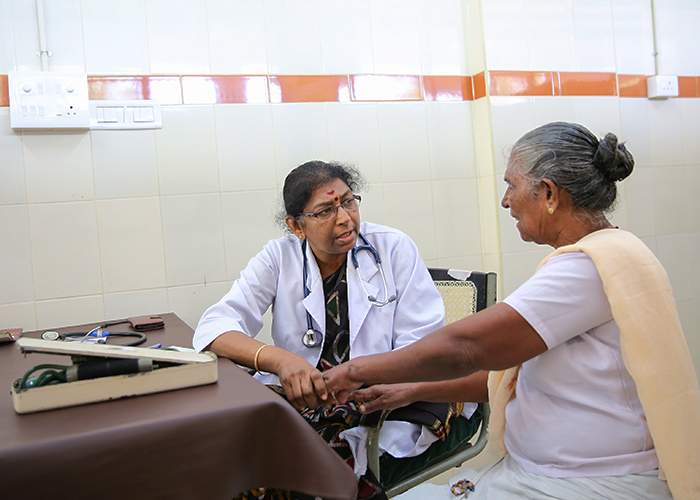
M 433 182 L 437 255 L 481 255 L 476 179 Z

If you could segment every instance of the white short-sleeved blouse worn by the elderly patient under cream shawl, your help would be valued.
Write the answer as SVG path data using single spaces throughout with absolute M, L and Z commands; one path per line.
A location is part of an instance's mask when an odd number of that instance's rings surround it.
M 620 331 L 593 261 L 553 257 L 504 301 L 548 350 L 523 363 L 506 406 L 506 449 L 526 471 L 608 476 L 658 468 Z

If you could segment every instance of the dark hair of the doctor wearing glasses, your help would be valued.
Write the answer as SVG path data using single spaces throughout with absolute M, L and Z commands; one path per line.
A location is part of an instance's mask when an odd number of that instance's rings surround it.
M 285 217 L 299 217 L 314 190 L 334 179 L 343 181 L 353 192 L 365 184 L 360 172 L 336 162 L 309 161 L 289 172 L 282 189 Z

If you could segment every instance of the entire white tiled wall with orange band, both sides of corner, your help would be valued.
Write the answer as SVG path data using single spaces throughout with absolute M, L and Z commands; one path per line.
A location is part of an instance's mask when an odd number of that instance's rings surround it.
M 33 5 L 0 0 L 0 106 L 3 75 L 39 67 Z M 359 166 L 364 218 L 429 264 L 508 293 L 547 252 L 499 208 L 509 147 L 568 120 L 634 153 L 613 220 L 667 267 L 700 365 L 700 3 L 656 5 L 678 99 L 646 99 L 649 0 L 47 1 L 52 68 L 85 70 L 92 98 L 159 99 L 164 128 L 18 134 L 0 107 L 2 323 L 194 324 L 281 233 L 280 182 L 312 158 Z

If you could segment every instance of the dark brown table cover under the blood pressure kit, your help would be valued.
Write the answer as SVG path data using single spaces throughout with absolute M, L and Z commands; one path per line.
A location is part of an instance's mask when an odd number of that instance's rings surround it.
M 165 330 L 147 333 L 145 346 L 190 347 L 191 328 L 162 316 Z M 0 345 L 2 499 L 231 500 L 257 486 L 355 498 L 352 470 L 287 402 L 227 359 L 218 361 L 217 384 L 16 414 L 12 381 L 47 362 L 69 358 Z

